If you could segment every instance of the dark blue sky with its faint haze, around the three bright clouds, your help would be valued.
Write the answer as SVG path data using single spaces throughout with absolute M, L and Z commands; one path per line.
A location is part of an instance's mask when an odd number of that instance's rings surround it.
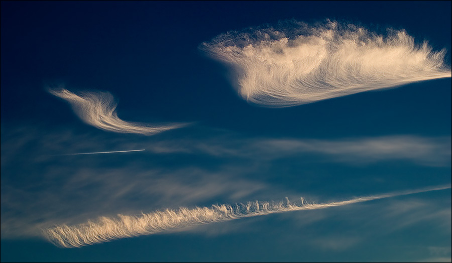
M 232 30 L 330 19 L 404 29 L 445 48 L 450 67 L 450 10 L 450 1 L 2 1 L 1 260 L 450 260 L 450 189 L 82 248 L 35 231 L 180 206 L 450 185 L 450 78 L 268 108 L 239 96 L 228 67 L 199 49 Z M 110 92 L 123 120 L 192 124 L 153 136 L 97 129 L 47 92 L 59 85 Z M 146 151 L 55 157 L 135 149 Z

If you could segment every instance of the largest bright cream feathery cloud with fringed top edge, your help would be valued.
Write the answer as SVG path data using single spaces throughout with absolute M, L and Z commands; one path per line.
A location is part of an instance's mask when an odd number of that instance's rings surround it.
M 416 45 L 404 30 L 383 36 L 331 21 L 231 31 L 200 49 L 233 68 L 244 99 L 269 107 L 451 77 L 445 50 Z

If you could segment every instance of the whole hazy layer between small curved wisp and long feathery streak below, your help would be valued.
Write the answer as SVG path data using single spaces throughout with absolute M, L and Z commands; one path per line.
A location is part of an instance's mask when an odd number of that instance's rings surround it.
M 189 136 L 185 129 L 177 130 L 159 137 L 130 137 L 96 129 L 86 133 L 82 127 L 82 132 L 9 125 L 2 125 L 1 130 L 2 238 L 39 236 L 41 228 L 51 225 L 76 225 L 88 218 L 136 214 L 143 209 L 300 195 L 325 202 L 337 198 L 329 192 L 334 187 L 322 183 L 324 173 L 310 173 L 307 167 L 321 169 L 331 161 L 348 169 L 334 173 L 344 191 L 349 191 L 345 196 L 366 195 L 375 189 L 375 178 L 366 166 L 354 175 L 356 167 L 343 164 L 403 160 L 421 170 L 413 178 L 425 176 L 438 185 L 450 181 L 450 170 L 445 168 L 450 166 L 449 137 L 313 140 L 251 139 L 211 129 L 189 130 Z M 123 153 L 79 154 L 98 152 Z M 286 163 L 281 160 L 290 160 L 293 169 L 284 170 Z M 377 176 L 384 182 L 378 187 L 390 185 L 382 191 L 404 187 L 391 174 Z M 361 192 L 354 188 L 356 180 L 365 180 Z M 319 182 L 317 188 L 314 182 Z

